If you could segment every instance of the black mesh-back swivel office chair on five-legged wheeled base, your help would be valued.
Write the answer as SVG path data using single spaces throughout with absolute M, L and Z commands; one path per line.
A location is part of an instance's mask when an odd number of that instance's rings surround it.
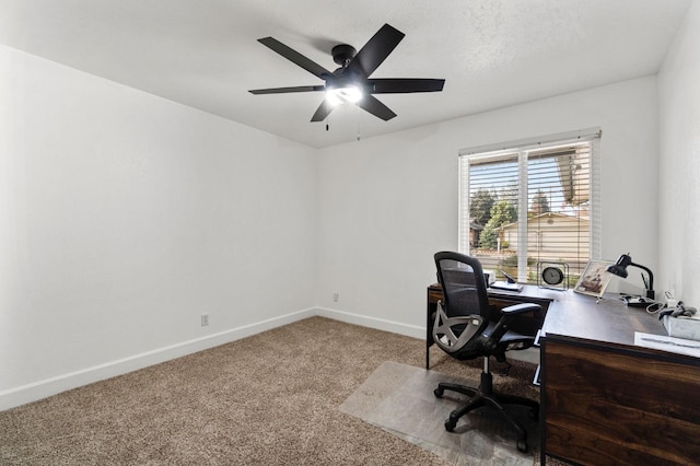
M 438 280 L 442 286 L 443 300 L 438 304 L 432 336 L 435 343 L 447 354 L 458 360 L 483 357 L 481 383 L 477 388 L 441 383 L 434 394 L 442 398 L 445 391 L 469 396 L 466 405 L 455 409 L 445 421 L 445 429 L 454 431 L 459 418 L 470 410 L 490 406 L 495 408 L 516 430 L 517 450 L 527 452 L 527 432 L 523 426 L 505 411 L 502 405 L 524 405 L 530 408 L 534 419 L 539 416 L 539 404 L 528 398 L 497 394 L 493 376 L 489 370 L 489 358 L 505 361 L 505 351 L 529 348 L 535 337 L 509 330 L 509 324 L 521 314 L 539 312 L 539 304 L 516 304 L 504 307 L 498 323 L 489 321 L 489 298 L 481 264 L 475 257 L 459 253 L 435 254 Z

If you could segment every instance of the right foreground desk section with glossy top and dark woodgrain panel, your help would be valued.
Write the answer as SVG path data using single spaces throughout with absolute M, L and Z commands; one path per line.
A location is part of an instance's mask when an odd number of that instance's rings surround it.
M 634 346 L 665 335 L 618 300 L 568 292 L 540 336 L 540 452 L 591 465 L 698 464 L 700 359 Z

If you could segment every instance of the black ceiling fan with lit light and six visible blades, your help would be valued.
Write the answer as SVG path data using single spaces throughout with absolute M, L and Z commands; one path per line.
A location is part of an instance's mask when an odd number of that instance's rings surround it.
M 325 84 L 256 89 L 249 92 L 257 95 L 325 91 L 326 98 L 311 118 L 312 121 L 326 119 L 338 102 L 353 103 L 385 121 L 389 120 L 396 114 L 372 94 L 440 92 L 445 83 L 444 79 L 370 78 L 404 36 L 405 34 L 400 31 L 385 24 L 360 51 L 347 44 L 335 46 L 331 50 L 332 59 L 340 65 L 340 68 L 332 72 L 281 42 L 272 37 L 264 37 L 258 39 L 260 44 L 320 78 Z

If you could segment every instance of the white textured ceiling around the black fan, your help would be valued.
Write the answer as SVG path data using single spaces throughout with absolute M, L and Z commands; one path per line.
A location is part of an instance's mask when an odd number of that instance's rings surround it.
M 348 142 L 654 74 L 692 0 L 0 0 L 0 43 L 312 147 Z M 310 123 L 323 84 L 257 39 L 327 69 L 384 24 L 406 34 L 374 78 L 443 78 Z M 326 130 L 326 123 L 329 129 Z

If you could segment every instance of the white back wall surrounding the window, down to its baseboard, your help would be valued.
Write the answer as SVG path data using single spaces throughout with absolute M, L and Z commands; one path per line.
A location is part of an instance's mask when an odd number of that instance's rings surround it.
M 643 78 L 322 150 L 317 303 L 420 337 L 432 255 L 457 247 L 458 150 L 596 126 L 603 257 L 629 252 L 656 269 L 656 84 Z

